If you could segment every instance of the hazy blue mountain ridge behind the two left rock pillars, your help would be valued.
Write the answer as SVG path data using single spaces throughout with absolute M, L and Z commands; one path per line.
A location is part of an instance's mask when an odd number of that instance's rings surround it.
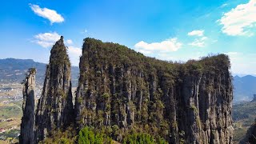
M 0 82 L 22 82 L 26 71 L 31 67 L 37 69 L 36 82 L 42 85 L 46 73 L 46 64 L 34 62 L 32 59 L 0 59 Z M 79 68 L 78 66 L 72 66 L 71 70 L 72 84 L 77 86 Z

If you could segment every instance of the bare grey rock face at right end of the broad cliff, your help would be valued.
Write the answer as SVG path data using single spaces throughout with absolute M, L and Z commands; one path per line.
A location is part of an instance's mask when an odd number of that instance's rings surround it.
M 217 66 L 217 65 L 216 65 Z M 188 143 L 232 143 L 232 83 L 223 66 L 221 71 L 190 73 L 182 84 L 184 105 L 179 111 L 185 117 L 179 130 L 187 134 Z M 214 73 L 214 74 L 210 74 Z

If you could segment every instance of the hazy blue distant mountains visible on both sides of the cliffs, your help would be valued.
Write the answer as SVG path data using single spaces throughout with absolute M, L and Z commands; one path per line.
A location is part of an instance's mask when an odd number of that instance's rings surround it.
M 32 59 L 0 59 L 0 82 L 22 82 L 25 78 L 26 71 L 34 67 L 37 69 L 37 82 L 43 84 L 46 64 L 34 62 Z M 72 84 L 77 86 L 79 68 L 72 66 Z M 238 76 L 239 75 L 239 76 Z M 246 102 L 253 99 L 256 94 L 256 77 L 252 75 L 243 76 L 234 74 L 234 103 Z

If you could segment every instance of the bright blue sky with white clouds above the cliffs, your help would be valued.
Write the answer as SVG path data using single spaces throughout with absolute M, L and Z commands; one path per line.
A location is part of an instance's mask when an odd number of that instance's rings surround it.
M 10 0 L 0 33 L 0 58 L 47 63 L 63 35 L 74 66 L 91 37 L 168 61 L 228 54 L 233 73 L 256 74 L 256 0 Z

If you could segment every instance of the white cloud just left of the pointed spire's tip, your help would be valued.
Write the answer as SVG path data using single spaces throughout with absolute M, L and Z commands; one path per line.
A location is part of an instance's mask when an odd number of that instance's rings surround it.
M 61 38 L 61 35 L 58 33 L 43 33 L 43 34 L 37 34 L 34 36 L 35 40 L 33 42 L 36 42 L 38 45 L 42 47 L 50 47 L 53 46 L 56 41 L 58 41 L 59 38 Z

